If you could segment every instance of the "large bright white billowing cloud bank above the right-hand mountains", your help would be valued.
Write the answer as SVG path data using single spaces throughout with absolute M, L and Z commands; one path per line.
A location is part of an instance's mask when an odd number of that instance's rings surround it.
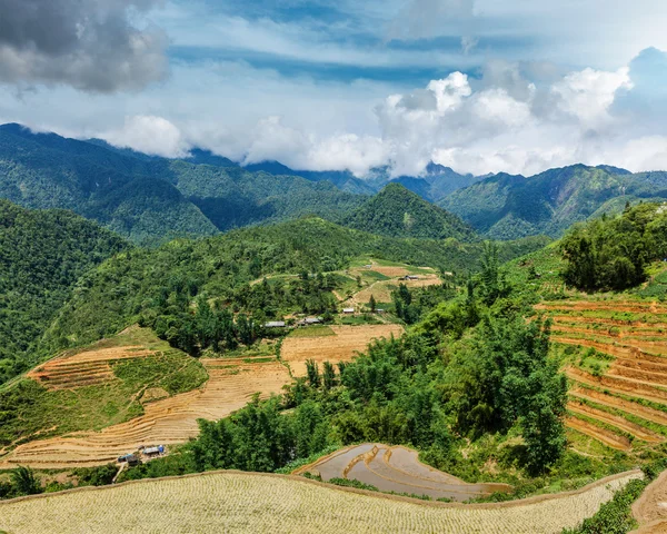
M 584 69 L 539 87 L 518 65 L 496 62 L 475 83 L 454 72 L 424 91 L 392 95 L 376 113 L 391 147 L 395 174 L 419 174 L 428 161 L 459 171 L 534 174 L 579 161 L 633 168 L 656 165 L 659 144 L 630 155 L 627 117 L 613 112 L 615 99 L 631 93 L 628 68 Z M 660 151 L 663 151 L 660 149 Z M 607 160 L 609 162 L 609 160 Z

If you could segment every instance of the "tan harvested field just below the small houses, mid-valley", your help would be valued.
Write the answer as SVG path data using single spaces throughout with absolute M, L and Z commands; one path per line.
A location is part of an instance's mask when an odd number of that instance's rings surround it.
M 331 326 L 331 329 L 335 337 L 288 337 L 282 342 L 281 358 L 295 376 L 306 375 L 307 359 L 315 359 L 320 366 L 323 362 L 349 362 L 371 340 L 399 337 L 404 333 L 400 325 Z

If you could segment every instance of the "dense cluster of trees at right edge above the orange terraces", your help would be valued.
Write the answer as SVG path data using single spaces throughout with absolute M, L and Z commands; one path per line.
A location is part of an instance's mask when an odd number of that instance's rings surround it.
M 626 206 L 623 215 L 575 226 L 561 243 L 565 281 L 585 290 L 623 290 L 646 280 L 646 265 L 667 258 L 667 208 Z

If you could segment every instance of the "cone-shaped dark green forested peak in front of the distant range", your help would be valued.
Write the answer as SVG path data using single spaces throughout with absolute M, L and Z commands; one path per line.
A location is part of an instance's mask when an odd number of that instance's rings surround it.
M 357 209 L 347 225 L 390 237 L 470 240 L 475 230 L 457 216 L 421 199 L 400 184 L 390 184 Z

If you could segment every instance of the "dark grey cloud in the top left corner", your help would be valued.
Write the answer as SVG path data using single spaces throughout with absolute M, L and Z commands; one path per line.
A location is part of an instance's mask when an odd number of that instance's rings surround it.
M 136 90 L 167 72 L 167 38 L 133 13 L 162 0 L 0 0 L 0 82 Z

